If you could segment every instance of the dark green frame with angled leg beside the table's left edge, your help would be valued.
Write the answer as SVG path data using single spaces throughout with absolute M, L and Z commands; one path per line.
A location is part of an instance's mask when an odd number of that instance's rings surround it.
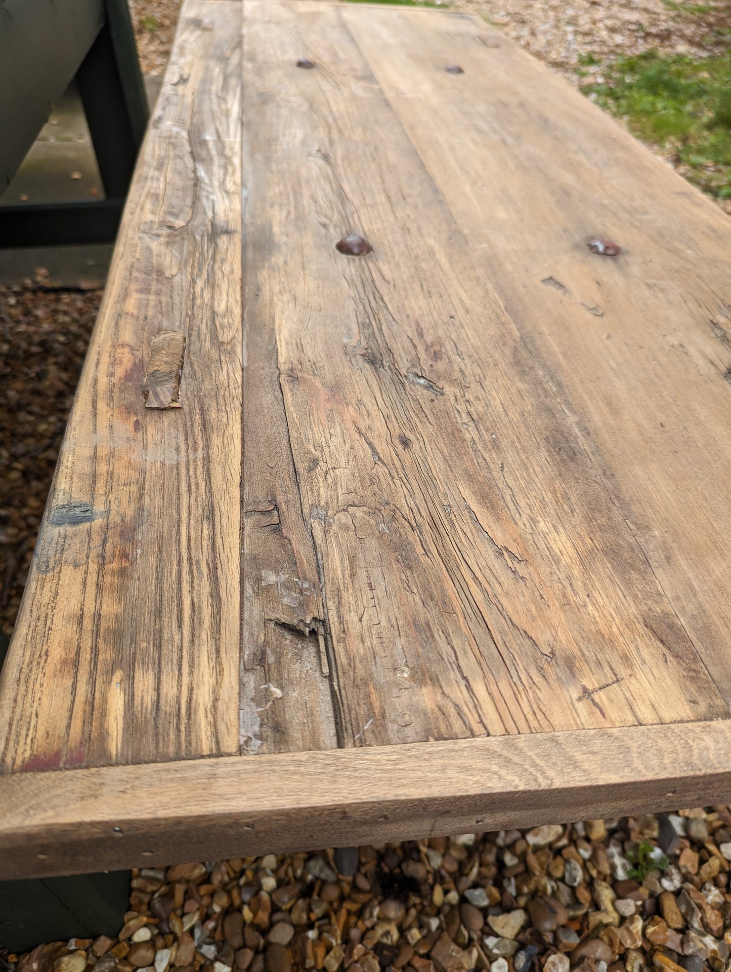
M 106 199 L 0 206 L 0 248 L 114 242 L 150 114 L 126 0 L 4 0 L 0 190 L 73 78 Z

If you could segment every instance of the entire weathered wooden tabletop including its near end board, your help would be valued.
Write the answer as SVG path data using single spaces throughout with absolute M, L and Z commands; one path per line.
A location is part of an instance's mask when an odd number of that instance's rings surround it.
M 731 222 L 477 18 L 243 11 L 138 163 L 0 877 L 728 802 Z

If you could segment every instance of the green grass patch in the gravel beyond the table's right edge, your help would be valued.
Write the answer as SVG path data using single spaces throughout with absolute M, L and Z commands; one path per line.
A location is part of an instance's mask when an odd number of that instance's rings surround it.
M 731 52 L 703 60 L 620 57 L 603 65 L 601 84 L 584 82 L 581 90 L 639 138 L 673 152 L 699 189 L 731 198 Z

